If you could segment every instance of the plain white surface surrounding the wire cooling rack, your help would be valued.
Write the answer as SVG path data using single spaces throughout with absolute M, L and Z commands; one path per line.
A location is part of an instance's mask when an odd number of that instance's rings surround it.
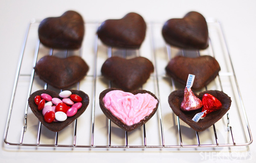
M 119 19 L 128 12 L 141 14 L 146 22 L 165 22 L 170 18 L 183 17 L 189 11 L 198 11 L 204 17 L 222 22 L 227 45 L 238 80 L 241 96 L 247 112 L 252 135 L 256 131 L 255 111 L 255 45 L 256 1 L 254 0 L 1 0 L 0 1 L 0 135 L 3 135 L 12 94 L 13 83 L 21 46 L 28 23 L 32 18 L 42 20 L 59 16 L 67 10 L 78 11 L 85 21 Z M 3 141 L 1 141 L 3 144 Z M 226 151 L 205 153 L 194 150 L 181 152 L 48 152 L 9 151 L 0 149 L 0 162 L 254 162 L 256 146 L 232 147 L 228 157 L 218 157 Z M 247 157 L 232 157 L 246 155 Z

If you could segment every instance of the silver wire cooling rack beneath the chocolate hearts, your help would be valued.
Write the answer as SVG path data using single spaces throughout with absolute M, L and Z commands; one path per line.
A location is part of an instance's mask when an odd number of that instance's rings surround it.
M 231 63 L 230 54 L 221 29 L 215 20 L 207 20 L 209 28 L 209 48 L 202 51 L 187 51 L 166 45 L 161 35 L 162 23 L 148 23 L 147 34 L 139 50 L 119 50 L 106 47 L 98 39 L 96 30 L 99 22 L 87 22 L 83 45 L 78 51 L 58 51 L 41 45 L 37 29 L 39 22 L 32 21 L 20 53 L 20 59 L 12 91 L 11 104 L 4 142 L 10 146 L 68 147 L 72 149 L 180 149 L 184 147 L 224 147 L 247 146 L 252 143 L 252 135 L 247 121 L 243 101 Z M 87 93 L 90 104 L 87 110 L 72 124 L 60 132 L 45 128 L 31 112 L 27 99 L 39 89 L 55 88 L 42 82 L 33 67 L 45 55 L 67 57 L 81 56 L 89 65 L 87 76 L 70 89 Z M 172 112 L 168 104 L 169 94 L 184 86 L 165 74 L 169 59 L 176 55 L 197 57 L 210 55 L 221 66 L 218 77 L 204 90 L 221 90 L 232 99 L 230 111 L 212 127 L 195 132 Z M 157 113 L 143 126 L 132 132 L 125 132 L 105 117 L 99 108 L 99 93 L 111 82 L 101 76 L 103 62 L 111 56 L 132 58 L 144 56 L 151 60 L 155 70 L 141 89 L 149 90 L 160 100 Z M 181 65 L 182 66 L 182 65 Z

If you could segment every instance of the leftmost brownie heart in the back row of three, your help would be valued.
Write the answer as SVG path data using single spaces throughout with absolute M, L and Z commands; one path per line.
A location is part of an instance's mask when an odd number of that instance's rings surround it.
M 42 44 L 57 49 L 78 49 L 84 38 L 84 20 L 76 11 L 41 21 L 38 36 Z

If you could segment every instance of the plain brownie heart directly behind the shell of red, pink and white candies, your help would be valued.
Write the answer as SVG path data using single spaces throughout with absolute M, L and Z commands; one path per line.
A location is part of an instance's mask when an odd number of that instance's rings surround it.
M 63 89 L 83 79 L 89 67 L 79 56 L 70 56 L 64 59 L 44 56 L 36 63 L 34 69 L 44 82 Z

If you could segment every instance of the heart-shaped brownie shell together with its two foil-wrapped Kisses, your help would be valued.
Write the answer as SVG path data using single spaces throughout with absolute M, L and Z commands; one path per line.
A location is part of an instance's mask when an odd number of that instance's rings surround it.
M 168 102 L 175 115 L 198 132 L 215 124 L 231 106 L 231 98 L 224 92 L 207 90 L 197 95 L 188 82 L 184 90 L 173 91 Z

